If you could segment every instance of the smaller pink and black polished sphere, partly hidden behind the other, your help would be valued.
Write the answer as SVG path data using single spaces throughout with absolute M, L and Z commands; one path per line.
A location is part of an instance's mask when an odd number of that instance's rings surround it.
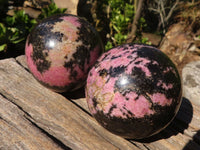
M 29 34 L 25 47 L 33 76 L 56 92 L 82 87 L 102 51 L 97 31 L 85 19 L 69 14 L 44 19 Z

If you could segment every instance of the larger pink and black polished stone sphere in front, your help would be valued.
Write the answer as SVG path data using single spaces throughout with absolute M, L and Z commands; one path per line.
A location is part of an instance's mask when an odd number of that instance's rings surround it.
M 87 78 L 91 114 L 124 138 L 142 139 L 160 132 L 175 117 L 181 96 L 175 65 L 148 45 L 112 48 L 102 54 Z

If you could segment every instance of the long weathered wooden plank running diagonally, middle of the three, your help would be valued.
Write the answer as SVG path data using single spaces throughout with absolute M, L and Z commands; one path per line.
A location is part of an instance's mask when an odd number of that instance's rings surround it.
M 0 61 L 0 93 L 27 113 L 27 118 L 72 149 L 135 149 L 99 126 L 60 94 L 40 85 L 14 59 Z

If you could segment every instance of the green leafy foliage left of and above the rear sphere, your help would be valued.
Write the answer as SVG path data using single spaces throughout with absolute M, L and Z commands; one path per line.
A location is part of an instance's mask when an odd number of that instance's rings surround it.
M 66 10 L 51 3 L 48 7 L 42 8 L 37 19 L 30 18 L 24 10 L 15 11 L 13 16 L 6 16 L 0 22 L 0 52 L 6 52 L 7 48 L 13 46 L 24 51 L 26 37 L 39 20 L 64 13 Z

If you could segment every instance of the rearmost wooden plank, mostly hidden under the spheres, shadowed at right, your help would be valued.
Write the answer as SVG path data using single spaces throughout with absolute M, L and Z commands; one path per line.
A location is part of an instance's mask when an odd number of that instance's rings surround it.
M 24 56 L 20 56 L 17 60 L 27 68 Z M 85 98 L 72 99 L 72 101 L 89 113 Z M 200 149 L 199 114 L 200 108 L 198 106 L 192 104 L 187 99 L 183 99 L 183 103 L 176 118 L 164 131 L 145 141 L 131 142 L 143 150 Z

